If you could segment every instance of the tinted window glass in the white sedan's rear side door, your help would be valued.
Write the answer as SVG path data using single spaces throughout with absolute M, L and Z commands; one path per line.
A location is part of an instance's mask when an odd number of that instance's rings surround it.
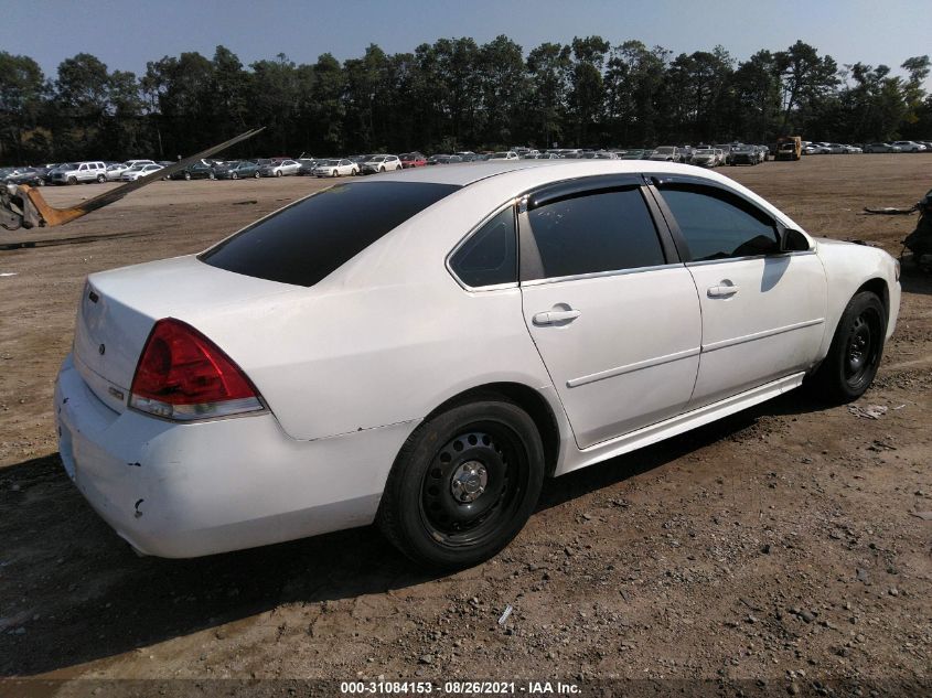
M 638 189 L 546 204 L 531 211 L 528 221 L 540 253 L 543 278 L 651 267 L 665 261 L 653 219 Z

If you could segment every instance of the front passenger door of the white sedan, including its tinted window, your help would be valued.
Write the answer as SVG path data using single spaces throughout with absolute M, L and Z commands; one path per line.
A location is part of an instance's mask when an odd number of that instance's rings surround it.
M 781 253 L 776 224 L 752 202 L 695 180 L 658 185 L 703 309 L 689 408 L 808 368 L 825 332 L 826 283 L 812 250 Z

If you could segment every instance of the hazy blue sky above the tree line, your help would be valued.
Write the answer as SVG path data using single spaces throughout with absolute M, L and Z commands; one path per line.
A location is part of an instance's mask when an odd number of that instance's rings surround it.
M 598 34 L 674 55 L 721 44 L 739 61 L 802 39 L 839 66 L 897 68 L 932 53 L 929 8 L 929 0 L 0 0 L 0 51 L 31 56 L 54 78 L 81 52 L 141 75 L 147 61 L 184 51 L 212 57 L 217 44 L 245 65 L 279 53 L 300 64 L 326 52 L 358 57 L 371 43 L 398 53 L 440 37 L 482 44 L 505 34 L 527 55 L 546 41 Z

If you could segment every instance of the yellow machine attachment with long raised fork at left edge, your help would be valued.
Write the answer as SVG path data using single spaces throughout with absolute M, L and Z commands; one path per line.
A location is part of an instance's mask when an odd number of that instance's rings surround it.
M 88 198 L 77 206 L 69 208 L 55 208 L 51 206 L 42 196 L 42 192 L 29 184 L 0 184 L 0 227 L 4 227 L 8 230 L 18 230 L 19 228 L 51 227 L 71 223 L 76 218 L 86 216 L 93 211 L 118 202 L 130 192 L 135 192 L 147 184 L 171 176 L 203 158 L 210 158 L 247 138 L 253 138 L 253 136 L 264 130 L 264 128 L 248 130 L 236 138 L 231 138 L 228 141 L 207 148 L 190 158 L 179 160 L 161 170 L 141 176 L 135 182 L 127 182 L 122 186 L 111 189 L 109 192 L 105 192 L 94 198 Z

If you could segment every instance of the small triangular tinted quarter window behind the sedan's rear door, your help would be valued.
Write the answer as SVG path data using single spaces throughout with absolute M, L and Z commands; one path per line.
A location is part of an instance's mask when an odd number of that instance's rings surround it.
M 478 288 L 517 281 L 514 210 L 508 206 L 483 225 L 450 259 L 467 286 Z

